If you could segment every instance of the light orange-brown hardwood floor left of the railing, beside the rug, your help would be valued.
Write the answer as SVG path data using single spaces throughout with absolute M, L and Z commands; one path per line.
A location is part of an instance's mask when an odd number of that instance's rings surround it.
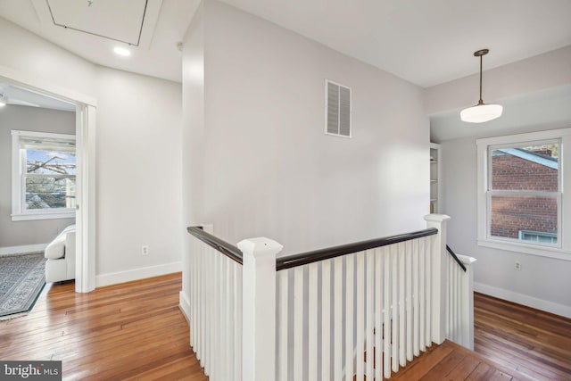
M 72 282 L 47 285 L 28 316 L 0 321 L 0 359 L 62 360 L 70 380 L 207 380 L 188 344 L 180 288 L 180 273 L 89 294 Z

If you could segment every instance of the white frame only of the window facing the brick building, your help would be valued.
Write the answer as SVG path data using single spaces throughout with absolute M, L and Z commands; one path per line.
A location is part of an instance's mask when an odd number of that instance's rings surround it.
M 558 242 L 557 244 L 526 243 L 517 239 L 493 237 L 490 235 L 490 203 L 488 182 L 490 181 L 490 147 L 533 144 L 534 142 L 559 140 L 559 195 L 558 197 Z M 476 140 L 477 149 L 477 244 L 479 246 L 510 252 L 527 253 L 571 261 L 571 128 L 552 129 L 505 137 L 487 137 Z M 570 148 L 571 149 L 571 148 Z M 497 192 L 497 191 L 496 191 Z

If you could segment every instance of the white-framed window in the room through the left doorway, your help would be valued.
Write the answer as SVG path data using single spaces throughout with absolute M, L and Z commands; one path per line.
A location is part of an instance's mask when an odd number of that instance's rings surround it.
M 75 216 L 75 136 L 12 130 L 12 220 Z

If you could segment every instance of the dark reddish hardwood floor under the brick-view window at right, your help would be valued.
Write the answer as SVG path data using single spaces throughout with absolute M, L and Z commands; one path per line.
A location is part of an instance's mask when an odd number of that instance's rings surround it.
M 571 319 L 474 295 L 475 350 L 537 380 L 571 380 Z

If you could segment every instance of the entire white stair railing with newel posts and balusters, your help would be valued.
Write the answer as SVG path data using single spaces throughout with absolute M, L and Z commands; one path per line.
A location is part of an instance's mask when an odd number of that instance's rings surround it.
M 448 219 L 426 216 L 427 229 L 405 241 L 286 258 L 267 238 L 239 250 L 213 236 L 194 240 L 189 319 L 204 372 L 211 380 L 381 380 L 446 338 L 473 347 L 474 260 L 459 256 L 464 272 L 446 253 Z

